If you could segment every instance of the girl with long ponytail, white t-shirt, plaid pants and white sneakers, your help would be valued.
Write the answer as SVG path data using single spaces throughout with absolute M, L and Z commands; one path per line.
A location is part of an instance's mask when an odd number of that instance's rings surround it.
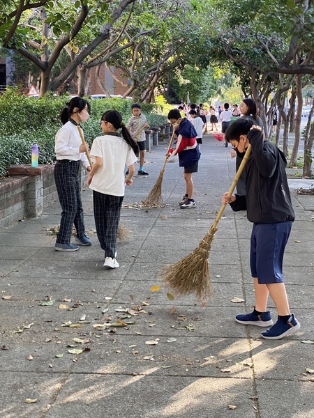
M 91 157 L 94 167 L 87 184 L 93 190 L 94 217 L 106 268 L 118 268 L 117 233 L 125 186 L 133 183 L 138 146 L 118 111 L 106 111 L 100 121 L 103 136 L 94 139 Z M 124 167 L 128 175 L 124 177 Z

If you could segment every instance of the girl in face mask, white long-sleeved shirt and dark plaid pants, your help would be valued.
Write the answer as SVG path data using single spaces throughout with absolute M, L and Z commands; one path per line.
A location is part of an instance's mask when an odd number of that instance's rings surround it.
M 80 164 L 91 171 L 86 151 L 88 144 L 82 144 L 78 125 L 89 118 L 90 105 L 79 97 L 72 98 L 61 112 L 63 127 L 57 132 L 54 152 L 57 163 L 54 167 L 54 181 L 61 205 L 61 222 L 54 246 L 56 251 L 77 251 L 78 245 L 91 245 L 85 234 L 79 170 Z M 73 224 L 76 229 L 75 242 L 70 243 Z

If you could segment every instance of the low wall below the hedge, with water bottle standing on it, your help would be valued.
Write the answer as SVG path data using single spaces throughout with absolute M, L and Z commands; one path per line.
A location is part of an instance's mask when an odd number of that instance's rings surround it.
M 0 180 L 0 227 L 42 215 L 44 206 L 58 199 L 53 165 L 39 165 L 36 169 L 17 165 L 8 173 L 10 177 Z M 87 171 L 82 169 L 81 183 L 86 179 Z

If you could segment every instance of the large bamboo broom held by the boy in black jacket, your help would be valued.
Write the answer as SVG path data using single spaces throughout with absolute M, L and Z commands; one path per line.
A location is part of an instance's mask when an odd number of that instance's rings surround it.
M 251 145 L 248 146 L 246 154 L 240 164 L 240 167 L 234 177 L 233 183 L 228 192 L 232 194 L 236 187 L 239 177 L 248 161 L 251 154 Z M 166 287 L 172 291 L 176 296 L 190 295 L 196 292 L 197 300 L 205 304 L 211 295 L 211 279 L 209 276 L 209 251 L 211 249 L 211 242 L 214 240 L 214 235 L 217 231 L 217 224 L 223 211 L 227 205 L 221 206 L 215 222 L 204 236 L 199 246 L 181 261 L 173 265 L 166 265 L 163 268 L 160 277 L 163 279 Z

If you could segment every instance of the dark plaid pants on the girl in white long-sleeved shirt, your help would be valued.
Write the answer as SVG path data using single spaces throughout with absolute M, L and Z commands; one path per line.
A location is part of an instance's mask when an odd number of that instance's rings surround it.
M 62 209 L 59 244 L 70 244 L 73 224 L 78 237 L 85 233 L 79 169 L 80 161 L 59 160 L 54 166 L 54 182 Z

